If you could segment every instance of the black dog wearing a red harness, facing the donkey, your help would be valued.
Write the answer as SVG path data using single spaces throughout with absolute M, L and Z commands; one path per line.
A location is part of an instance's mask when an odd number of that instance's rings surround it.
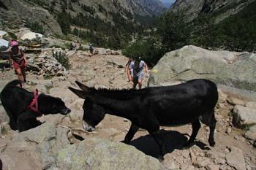
M 41 124 L 37 117 L 61 113 L 67 115 L 67 108 L 61 98 L 29 92 L 18 87 L 20 80 L 12 80 L 1 91 L 0 98 L 7 115 L 10 117 L 12 130 L 26 131 Z M 33 106 L 31 106 L 31 104 Z

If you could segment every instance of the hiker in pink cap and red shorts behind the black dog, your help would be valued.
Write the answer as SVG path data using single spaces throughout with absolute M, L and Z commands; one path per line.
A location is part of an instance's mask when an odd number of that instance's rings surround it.
M 26 61 L 26 56 L 23 53 L 22 49 L 19 47 L 16 40 L 12 40 L 10 46 L 10 67 L 12 68 L 13 64 L 15 72 L 18 74 L 18 80 L 26 82 L 25 68 L 28 65 L 28 62 Z

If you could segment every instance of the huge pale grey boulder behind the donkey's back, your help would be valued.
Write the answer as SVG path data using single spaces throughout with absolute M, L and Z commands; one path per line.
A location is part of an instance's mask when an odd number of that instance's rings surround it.
M 152 69 L 148 85 L 204 78 L 224 87 L 247 90 L 256 98 L 255 61 L 255 53 L 211 51 L 189 45 L 166 53 Z

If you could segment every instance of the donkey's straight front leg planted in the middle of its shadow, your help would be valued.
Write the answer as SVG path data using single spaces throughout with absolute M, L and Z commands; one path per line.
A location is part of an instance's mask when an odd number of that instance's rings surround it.
M 164 155 L 165 155 L 164 151 L 166 150 L 165 150 L 164 139 L 163 139 L 163 136 L 160 134 L 159 127 L 157 131 L 148 131 L 148 132 L 153 136 L 154 140 L 157 142 L 159 146 L 159 156 L 158 156 L 159 161 L 163 161 Z

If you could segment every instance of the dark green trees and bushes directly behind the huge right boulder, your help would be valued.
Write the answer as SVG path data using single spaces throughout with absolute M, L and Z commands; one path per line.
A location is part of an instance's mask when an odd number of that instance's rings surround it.
M 148 47 L 152 43 L 151 39 L 144 40 L 143 43 L 135 42 L 124 50 L 124 54 L 132 57 L 140 55 L 145 61 L 154 65 L 162 54 L 184 45 L 196 45 L 215 50 L 255 52 L 255 9 L 256 2 L 217 24 L 215 20 L 219 11 L 211 15 L 200 14 L 189 23 L 182 19 L 182 14 L 166 12 L 160 16 L 157 22 L 157 34 L 153 35 L 155 42 L 160 42 L 160 45 L 155 46 L 157 48 Z

